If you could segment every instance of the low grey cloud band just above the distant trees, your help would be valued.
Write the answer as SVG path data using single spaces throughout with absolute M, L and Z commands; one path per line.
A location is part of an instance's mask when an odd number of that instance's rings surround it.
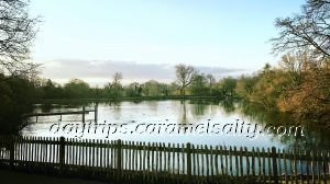
M 85 79 L 95 84 L 111 80 L 112 74 L 121 72 L 124 81 L 146 81 L 155 79 L 163 82 L 175 80 L 174 66 L 168 64 L 138 64 L 113 60 L 73 60 L 57 59 L 43 61 L 43 77 L 63 83 L 73 78 Z M 220 67 L 194 66 L 200 73 L 210 73 L 216 78 L 231 76 L 243 70 Z M 235 76 L 235 74 L 234 74 Z

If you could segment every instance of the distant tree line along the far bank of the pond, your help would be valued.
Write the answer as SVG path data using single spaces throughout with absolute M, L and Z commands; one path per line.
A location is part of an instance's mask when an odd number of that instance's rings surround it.
M 122 97 L 170 97 L 170 96 L 235 96 L 235 79 L 216 81 L 212 74 L 199 73 L 194 67 L 177 65 L 177 79 L 172 83 L 156 80 L 123 84 L 123 76 L 116 72 L 102 88 L 90 87 L 81 79 L 73 79 L 59 84 L 51 79 L 36 79 L 32 82 L 34 94 L 40 100 L 56 99 L 117 99 Z

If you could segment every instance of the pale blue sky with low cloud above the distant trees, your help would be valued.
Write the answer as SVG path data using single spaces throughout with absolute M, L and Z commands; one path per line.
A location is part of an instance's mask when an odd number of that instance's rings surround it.
M 116 71 L 124 82 L 175 80 L 186 64 L 217 79 L 276 65 L 270 39 L 276 18 L 302 0 L 31 0 L 42 23 L 32 58 L 42 77 L 95 85 Z

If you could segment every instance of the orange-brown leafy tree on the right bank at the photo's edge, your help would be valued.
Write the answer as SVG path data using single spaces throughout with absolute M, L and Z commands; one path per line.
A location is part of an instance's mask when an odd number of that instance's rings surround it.
M 327 60 L 330 64 L 330 60 Z M 310 62 L 307 62 L 307 65 Z M 293 83 L 279 96 L 277 106 L 283 112 L 294 113 L 298 119 L 308 118 L 318 123 L 330 119 L 330 65 L 322 68 L 312 66 L 301 71 L 299 81 L 290 73 Z

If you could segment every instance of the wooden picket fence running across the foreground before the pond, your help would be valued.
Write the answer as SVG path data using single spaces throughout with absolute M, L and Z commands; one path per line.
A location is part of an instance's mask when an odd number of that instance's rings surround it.
M 329 183 L 329 152 L 0 137 L 0 166 L 123 183 Z

